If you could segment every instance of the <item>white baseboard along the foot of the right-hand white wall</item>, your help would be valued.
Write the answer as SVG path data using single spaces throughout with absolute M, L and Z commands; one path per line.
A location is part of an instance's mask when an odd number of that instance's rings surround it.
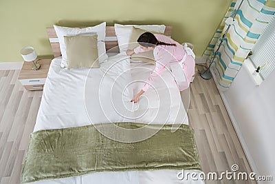
M 217 77 L 216 75 L 214 74 L 214 72 L 212 71 L 213 69 L 210 68 L 210 72 L 212 73 L 212 76 L 213 76 L 213 79 L 214 79 L 214 83 L 217 85 Z M 219 90 L 219 88 L 218 88 Z M 226 96 L 224 94 L 224 92 L 222 92 L 221 90 L 219 90 L 219 94 L 221 95 L 221 99 L 223 100 L 223 103 L 225 105 L 225 108 L 228 112 L 228 115 L 230 117 L 230 120 L 232 122 L 232 125 L 234 127 L 234 130 L 236 132 L 236 135 L 238 136 L 238 139 L 241 143 L 241 146 L 243 147 L 243 152 L 245 153 L 245 156 L 246 158 L 248 159 L 248 163 L 250 164 L 250 167 L 251 167 L 251 170 L 252 172 L 256 173 L 256 174 L 259 174 L 259 171 L 256 167 L 256 164 L 254 163 L 254 160 L 248 150 L 248 145 L 245 143 L 245 139 L 243 138 L 243 134 L 241 134 L 241 130 L 239 128 L 239 125 L 234 117 L 234 114 L 230 108 L 230 105 L 228 103 L 228 100 L 226 99 Z M 261 184 L 262 182 L 261 181 L 257 181 L 257 183 Z

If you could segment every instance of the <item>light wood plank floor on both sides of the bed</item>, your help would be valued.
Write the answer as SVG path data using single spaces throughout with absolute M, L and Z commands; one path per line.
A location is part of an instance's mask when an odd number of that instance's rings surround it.
M 24 90 L 19 70 L 0 70 L 0 184 L 20 183 L 20 173 L 29 135 L 41 102 L 41 91 Z M 195 130 L 203 172 L 251 172 L 221 96 L 211 79 L 197 76 L 190 85 L 188 117 Z M 206 181 L 206 183 L 252 183 L 251 181 Z

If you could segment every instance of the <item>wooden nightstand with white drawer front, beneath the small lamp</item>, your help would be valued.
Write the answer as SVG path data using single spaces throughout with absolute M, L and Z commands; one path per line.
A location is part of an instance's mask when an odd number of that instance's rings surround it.
M 19 74 L 19 81 L 26 90 L 43 90 L 52 59 L 40 59 L 41 68 L 32 70 L 32 62 L 24 62 Z

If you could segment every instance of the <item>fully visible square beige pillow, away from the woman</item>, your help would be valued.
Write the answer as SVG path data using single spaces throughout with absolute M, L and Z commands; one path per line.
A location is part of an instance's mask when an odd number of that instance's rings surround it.
M 99 68 L 98 35 L 65 36 L 68 69 Z

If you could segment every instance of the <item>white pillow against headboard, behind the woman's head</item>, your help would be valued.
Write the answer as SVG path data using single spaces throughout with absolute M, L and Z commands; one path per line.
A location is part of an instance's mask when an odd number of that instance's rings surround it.
M 125 52 L 128 49 L 128 43 L 132 34 L 132 27 L 140 28 L 146 31 L 164 33 L 165 25 L 121 25 L 115 23 L 115 35 L 118 39 L 120 52 Z

